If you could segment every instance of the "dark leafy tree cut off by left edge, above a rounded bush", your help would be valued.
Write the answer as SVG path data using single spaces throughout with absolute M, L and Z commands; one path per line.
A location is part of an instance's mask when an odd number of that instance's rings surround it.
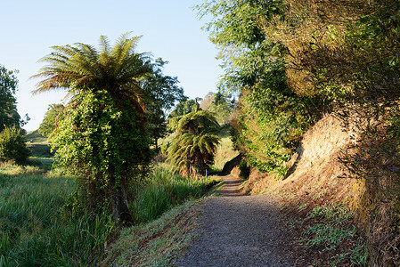
M 14 94 L 17 91 L 18 79 L 14 73 L 0 65 L 0 131 L 6 126 L 24 125 L 29 120 L 28 115 L 25 116 L 25 120 L 21 120 L 17 112 Z

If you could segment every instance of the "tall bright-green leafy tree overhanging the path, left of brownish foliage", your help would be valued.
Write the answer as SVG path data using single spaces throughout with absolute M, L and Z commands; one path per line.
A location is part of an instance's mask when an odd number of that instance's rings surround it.
M 241 93 L 233 120 L 235 147 L 262 171 L 282 164 L 314 118 L 307 112 L 314 102 L 288 83 L 285 47 L 262 27 L 263 20 L 281 18 L 283 1 L 205 0 L 196 8 L 200 16 L 212 16 L 205 28 L 223 61 L 220 88 Z

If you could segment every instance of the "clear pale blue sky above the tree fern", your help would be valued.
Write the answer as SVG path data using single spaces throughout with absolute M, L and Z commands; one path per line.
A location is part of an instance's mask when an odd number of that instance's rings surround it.
M 29 80 L 43 67 L 37 61 L 50 46 L 98 44 L 108 36 L 111 44 L 123 33 L 143 36 L 137 52 L 150 52 L 169 61 L 164 71 L 178 77 L 190 98 L 216 92 L 222 70 L 216 48 L 200 28 L 192 11 L 200 0 L 0 0 L 0 64 L 19 69 L 16 94 L 21 116 L 31 120 L 24 128 L 37 129 L 49 104 L 60 103 L 63 92 L 32 96 L 38 80 Z

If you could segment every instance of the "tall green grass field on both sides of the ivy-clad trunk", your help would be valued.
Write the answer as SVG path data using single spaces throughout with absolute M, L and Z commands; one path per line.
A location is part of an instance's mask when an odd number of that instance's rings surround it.
M 151 222 L 213 180 L 193 182 L 155 168 L 131 203 L 137 222 Z M 0 166 L 0 266 L 94 266 L 116 233 L 108 214 L 71 216 L 64 206 L 75 180 L 37 166 Z M 132 252 L 135 254 L 135 251 Z

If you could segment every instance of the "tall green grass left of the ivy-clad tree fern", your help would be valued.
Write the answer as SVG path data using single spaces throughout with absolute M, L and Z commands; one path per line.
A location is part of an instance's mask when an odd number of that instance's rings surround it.
M 0 166 L 0 266 L 94 265 L 114 230 L 110 216 L 66 217 L 74 180 L 32 169 Z

